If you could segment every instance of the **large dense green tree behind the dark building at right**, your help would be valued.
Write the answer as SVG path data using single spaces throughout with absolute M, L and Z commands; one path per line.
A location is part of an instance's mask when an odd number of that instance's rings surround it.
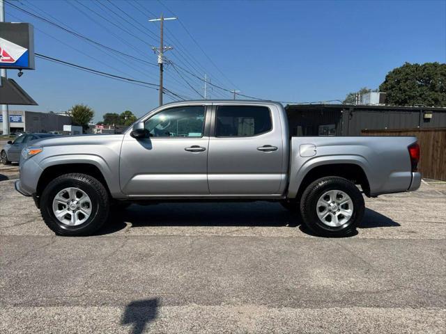
M 379 89 L 387 104 L 446 106 L 446 64 L 405 63 L 387 73 Z

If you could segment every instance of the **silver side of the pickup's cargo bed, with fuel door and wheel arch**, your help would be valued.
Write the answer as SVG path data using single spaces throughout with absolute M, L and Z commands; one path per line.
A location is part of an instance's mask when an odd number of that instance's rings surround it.
M 324 164 L 360 166 L 369 180 L 369 196 L 409 190 L 421 177 L 413 173 L 408 154 L 416 141 L 414 136 L 292 136 L 289 196 L 295 196 L 309 170 Z

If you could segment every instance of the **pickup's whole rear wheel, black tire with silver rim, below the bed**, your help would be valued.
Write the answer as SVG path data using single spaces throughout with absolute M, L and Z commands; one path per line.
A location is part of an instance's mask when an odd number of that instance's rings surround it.
M 300 200 L 302 221 L 312 232 L 344 237 L 355 231 L 364 216 L 364 198 L 353 182 L 323 177 L 307 186 Z

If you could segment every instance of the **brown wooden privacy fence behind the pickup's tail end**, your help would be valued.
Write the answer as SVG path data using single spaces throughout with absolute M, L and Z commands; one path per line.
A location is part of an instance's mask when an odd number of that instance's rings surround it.
M 446 127 L 433 129 L 362 130 L 362 136 L 417 136 L 423 177 L 446 181 Z

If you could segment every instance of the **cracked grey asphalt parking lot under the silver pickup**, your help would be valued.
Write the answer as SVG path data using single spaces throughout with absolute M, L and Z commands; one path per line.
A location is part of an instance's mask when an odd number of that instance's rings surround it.
M 68 238 L 0 177 L 0 333 L 445 333 L 444 183 L 367 199 L 342 239 L 268 202 L 132 205 Z

